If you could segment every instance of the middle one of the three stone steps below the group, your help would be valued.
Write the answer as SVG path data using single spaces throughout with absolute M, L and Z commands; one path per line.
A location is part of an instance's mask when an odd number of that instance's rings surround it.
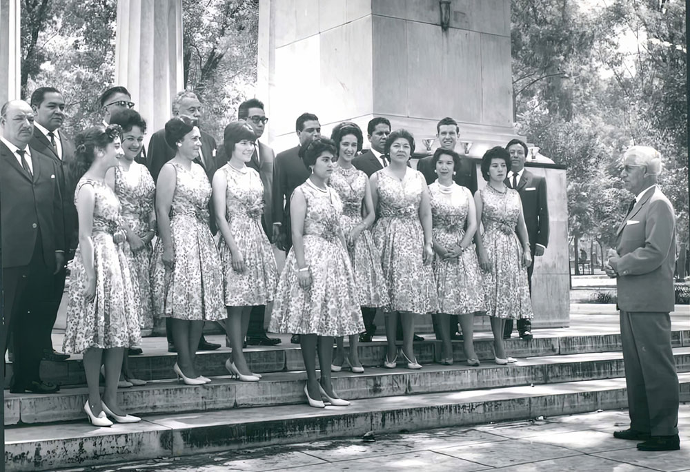
M 679 372 L 690 371 L 690 347 L 673 351 Z M 372 367 L 363 374 L 333 373 L 333 387 L 348 400 L 382 398 L 444 391 L 464 391 L 530 384 L 601 380 L 624 376 L 622 353 L 584 353 L 541 356 L 500 366 L 483 362 L 466 365 L 427 365 L 411 371 Z M 304 402 L 304 371 L 268 373 L 259 382 L 239 382 L 228 375 L 193 387 L 178 381 L 155 381 L 143 387 L 121 389 L 123 407 L 132 414 L 165 414 L 269 407 Z M 63 388 L 55 395 L 5 396 L 5 424 L 36 424 L 84 420 L 86 387 Z

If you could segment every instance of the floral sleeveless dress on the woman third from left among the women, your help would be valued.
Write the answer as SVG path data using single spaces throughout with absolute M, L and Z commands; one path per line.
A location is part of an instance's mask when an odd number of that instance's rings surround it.
M 163 240 L 153 252 L 151 287 L 156 316 L 179 320 L 215 321 L 227 318 L 223 304 L 223 273 L 218 250 L 208 228 L 211 186 L 196 163 L 190 170 L 177 163 L 175 194 L 170 207 L 170 232 L 175 265 L 163 264 Z

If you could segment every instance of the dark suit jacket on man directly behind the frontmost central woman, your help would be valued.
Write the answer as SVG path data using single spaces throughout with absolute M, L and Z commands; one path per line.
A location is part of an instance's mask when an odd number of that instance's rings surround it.
M 309 170 L 299 157 L 299 146 L 275 156 L 273 167 L 273 223 L 281 223 L 290 232 L 290 196 L 309 177 Z

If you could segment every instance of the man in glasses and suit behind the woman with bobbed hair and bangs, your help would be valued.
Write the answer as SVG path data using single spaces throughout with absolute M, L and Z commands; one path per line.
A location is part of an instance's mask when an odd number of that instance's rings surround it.
M 264 103 L 257 99 L 249 99 L 240 103 L 237 110 L 237 119 L 244 120 L 248 123 L 254 134 L 257 136 L 254 154 L 251 160 L 247 163 L 247 167 L 251 167 L 259 172 L 259 177 L 264 184 L 264 216 L 262 218 L 262 227 L 268 239 L 273 239 L 273 163 L 275 161 L 275 154 L 273 150 L 259 141 L 264 135 L 266 129 L 266 122 L 268 116 L 264 112 Z M 218 167 L 224 165 L 230 160 L 230 156 L 225 152 L 225 148 L 221 145 L 218 150 L 219 163 Z M 269 338 L 266 336 L 264 329 L 264 317 L 266 315 L 266 306 L 259 305 L 252 307 L 249 318 L 249 328 L 247 330 L 247 344 L 252 346 L 275 346 L 280 344 L 279 338 Z

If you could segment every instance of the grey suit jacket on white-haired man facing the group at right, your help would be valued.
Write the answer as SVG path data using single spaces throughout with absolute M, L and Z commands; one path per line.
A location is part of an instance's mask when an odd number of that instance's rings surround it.
M 676 294 L 676 215 L 659 187 L 644 192 L 618 227 L 618 307 L 673 311 Z

